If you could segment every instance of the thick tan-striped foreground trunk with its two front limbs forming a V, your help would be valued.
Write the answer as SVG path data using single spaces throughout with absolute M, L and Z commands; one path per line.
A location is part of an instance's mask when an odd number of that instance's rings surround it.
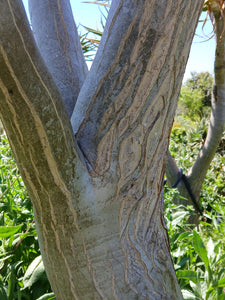
M 113 1 L 74 140 L 21 2 L 0 2 L 0 115 L 57 300 L 182 299 L 163 219 L 164 157 L 201 4 Z

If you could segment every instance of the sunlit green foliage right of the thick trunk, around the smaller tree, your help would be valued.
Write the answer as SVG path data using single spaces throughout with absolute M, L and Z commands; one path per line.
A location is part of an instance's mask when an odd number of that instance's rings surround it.
M 170 152 L 187 173 L 204 143 L 208 120 L 206 116 L 200 119 L 197 109 L 188 116 L 181 111 L 172 129 Z M 223 137 L 203 183 L 200 202 L 204 216 L 198 228 L 193 230 L 187 224 L 193 207 L 176 206 L 173 199 L 179 197 L 178 191 L 165 186 L 171 254 L 184 299 L 225 299 L 224 140 Z

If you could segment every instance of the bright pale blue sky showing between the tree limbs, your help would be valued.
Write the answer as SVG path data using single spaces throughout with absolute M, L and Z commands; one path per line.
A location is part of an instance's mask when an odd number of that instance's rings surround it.
M 23 0 L 27 6 L 28 0 Z M 84 3 L 84 0 L 70 0 L 73 15 L 76 25 L 85 25 L 87 27 L 97 28 L 101 18 L 100 7 L 94 4 Z M 104 11 L 104 9 L 102 9 Z M 205 15 L 201 16 L 204 19 Z M 79 27 L 81 30 L 81 26 Z M 78 29 L 79 30 L 79 29 Z M 215 38 L 207 39 L 212 35 L 212 25 L 210 20 L 206 22 L 204 31 L 202 30 L 202 23 L 199 23 L 195 35 L 191 52 L 189 55 L 184 80 L 190 78 L 191 72 L 205 72 L 208 71 L 213 74 L 214 68 L 214 54 L 215 54 Z M 200 36 L 200 37 L 199 37 Z

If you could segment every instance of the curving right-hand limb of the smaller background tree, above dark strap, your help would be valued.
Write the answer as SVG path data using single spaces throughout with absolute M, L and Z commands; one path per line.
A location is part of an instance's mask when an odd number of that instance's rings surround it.
M 210 124 L 205 143 L 188 174 L 197 199 L 225 127 L 225 31 L 224 16 L 221 15 L 218 4 L 213 6 L 213 15 L 216 29 L 216 55 Z

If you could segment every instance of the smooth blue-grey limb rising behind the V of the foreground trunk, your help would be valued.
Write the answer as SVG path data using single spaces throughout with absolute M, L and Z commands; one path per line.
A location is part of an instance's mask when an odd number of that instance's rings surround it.
M 68 0 L 29 0 L 34 37 L 71 116 L 87 74 Z

